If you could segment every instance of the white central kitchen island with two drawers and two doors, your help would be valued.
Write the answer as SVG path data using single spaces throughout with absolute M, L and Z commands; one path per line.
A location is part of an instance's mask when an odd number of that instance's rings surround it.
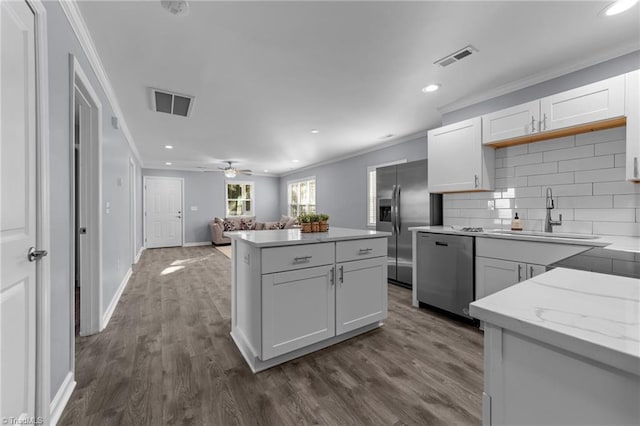
M 231 337 L 255 373 L 382 325 L 386 232 L 227 232 Z

